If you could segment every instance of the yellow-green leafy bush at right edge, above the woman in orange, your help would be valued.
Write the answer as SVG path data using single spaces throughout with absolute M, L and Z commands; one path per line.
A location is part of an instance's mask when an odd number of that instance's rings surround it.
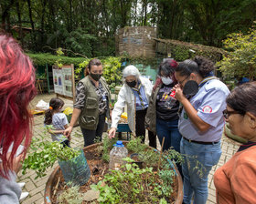
M 256 22 L 255 22 L 256 23 Z M 227 78 L 249 77 L 251 80 L 256 76 L 256 29 L 245 35 L 233 33 L 224 41 L 229 54 L 219 62 L 219 70 Z

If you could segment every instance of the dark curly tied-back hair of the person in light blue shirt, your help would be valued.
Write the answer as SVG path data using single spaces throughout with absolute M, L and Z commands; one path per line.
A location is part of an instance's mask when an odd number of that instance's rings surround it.
M 189 76 L 191 73 L 197 73 L 202 77 L 206 77 L 212 70 L 214 70 L 214 63 L 203 56 L 196 56 L 194 60 L 186 59 L 176 67 L 176 72 L 179 72 L 180 76 Z

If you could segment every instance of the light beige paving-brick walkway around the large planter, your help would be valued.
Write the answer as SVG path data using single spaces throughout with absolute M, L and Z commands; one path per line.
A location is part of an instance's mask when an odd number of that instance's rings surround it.
M 31 103 L 31 108 L 35 107 L 37 102 L 40 99 L 43 99 L 45 102 L 49 102 L 51 97 L 55 97 L 54 94 L 51 95 L 39 95 L 37 96 Z M 64 99 L 65 101 L 65 107 L 72 107 L 72 101 Z M 43 120 L 44 120 L 44 116 L 40 115 L 40 116 L 35 116 L 34 117 L 34 128 L 33 128 L 33 133 L 34 133 L 34 137 L 37 137 L 40 133 L 43 132 Z M 72 140 L 71 140 L 71 147 L 75 148 L 75 147 L 83 147 L 83 138 L 82 138 L 82 134 L 80 132 L 80 128 L 74 128 L 72 131 Z M 48 140 L 51 140 L 50 136 L 48 138 L 46 138 Z M 146 140 L 147 142 L 147 140 Z M 158 143 L 159 144 L 159 143 Z M 232 143 L 229 143 L 229 141 L 227 141 L 227 138 L 223 138 L 222 139 L 222 155 L 221 158 L 219 159 L 219 163 L 217 166 L 213 167 L 210 175 L 208 177 L 208 204 L 213 204 L 216 203 L 216 196 L 215 196 L 215 187 L 214 187 L 214 183 L 213 183 L 213 174 L 215 172 L 215 170 L 217 168 L 219 168 L 220 166 L 222 166 L 224 163 L 226 163 L 229 158 L 232 157 L 232 155 L 237 151 L 238 146 Z M 51 172 L 53 171 L 53 169 L 57 166 L 57 164 L 55 164 L 55 166 L 53 168 L 48 169 L 47 171 L 47 176 L 41 178 L 41 179 L 35 179 L 36 177 L 36 173 L 33 170 L 29 170 L 27 171 L 27 174 L 22 175 L 21 172 L 18 173 L 18 181 L 19 182 L 26 182 L 26 186 L 23 189 L 23 191 L 28 191 L 29 192 L 29 196 L 27 197 L 27 199 L 25 199 L 22 204 L 43 204 L 44 203 L 44 189 L 45 189 L 45 185 L 46 182 L 48 180 L 49 175 L 51 174 Z

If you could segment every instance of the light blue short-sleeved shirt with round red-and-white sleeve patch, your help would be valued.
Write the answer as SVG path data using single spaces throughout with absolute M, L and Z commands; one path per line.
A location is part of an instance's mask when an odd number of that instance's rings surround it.
M 200 87 L 197 94 L 191 97 L 190 103 L 197 110 L 197 116 L 210 125 L 207 131 L 199 131 L 187 117 L 183 108 L 178 129 L 180 134 L 191 140 L 203 142 L 216 142 L 222 136 L 224 117 L 222 111 L 226 109 L 226 97 L 229 95 L 229 88 L 218 79 L 207 81 Z

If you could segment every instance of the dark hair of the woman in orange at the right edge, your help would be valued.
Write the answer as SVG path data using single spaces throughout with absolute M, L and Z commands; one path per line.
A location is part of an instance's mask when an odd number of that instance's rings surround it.
M 227 105 L 241 115 L 250 112 L 256 117 L 256 82 L 235 87 L 226 99 Z

